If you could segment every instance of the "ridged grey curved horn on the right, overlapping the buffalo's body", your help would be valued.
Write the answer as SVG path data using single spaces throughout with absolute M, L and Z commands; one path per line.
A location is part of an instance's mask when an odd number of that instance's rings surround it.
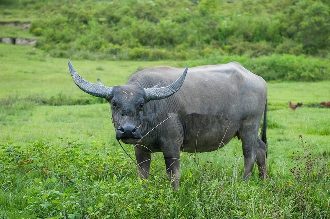
M 188 67 L 186 67 L 180 76 L 176 81 L 174 81 L 172 84 L 166 86 L 166 87 L 152 87 L 152 88 L 145 88 L 145 99 L 148 100 L 160 100 L 166 97 L 171 96 L 175 92 L 179 90 L 181 87 L 184 78 L 187 74 Z

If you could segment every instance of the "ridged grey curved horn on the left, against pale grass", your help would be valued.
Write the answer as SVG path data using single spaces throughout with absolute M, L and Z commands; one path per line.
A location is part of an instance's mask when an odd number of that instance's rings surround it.
M 68 65 L 71 77 L 80 89 L 95 97 L 103 97 L 108 99 L 113 97 L 112 87 L 88 82 L 82 77 L 80 77 L 80 75 L 78 75 L 75 68 L 72 66 L 70 60 L 68 61 Z

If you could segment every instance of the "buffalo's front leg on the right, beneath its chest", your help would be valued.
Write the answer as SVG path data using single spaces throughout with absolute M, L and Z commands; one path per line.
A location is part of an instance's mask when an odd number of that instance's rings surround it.
M 175 190 L 180 187 L 180 151 L 163 151 L 166 173 Z

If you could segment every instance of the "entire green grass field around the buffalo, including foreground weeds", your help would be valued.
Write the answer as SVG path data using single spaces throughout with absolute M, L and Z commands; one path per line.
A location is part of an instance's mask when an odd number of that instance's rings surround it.
M 123 84 L 134 71 L 185 61 L 71 60 L 89 81 Z M 233 60 L 234 61 L 234 60 Z M 0 44 L 0 218 L 329 218 L 330 81 L 268 83 L 268 170 L 242 182 L 237 138 L 182 153 L 181 187 L 137 170 L 115 141 L 109 106 L 82 92 L 67 60 Z M 287 102 L 303 102 L 295 111 Z M 302 135 L 302 137 L 299 137 Z M 134 149 L 125 145 L 132 156 Z

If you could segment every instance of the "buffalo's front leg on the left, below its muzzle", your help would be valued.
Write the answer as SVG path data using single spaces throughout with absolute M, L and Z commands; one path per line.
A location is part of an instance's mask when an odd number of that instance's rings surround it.
M 140 179 L 147 179 L 150 172 L 150 153 L 137 147 L 134 148 L 136 163 L 138 164 L 138 173 Z

